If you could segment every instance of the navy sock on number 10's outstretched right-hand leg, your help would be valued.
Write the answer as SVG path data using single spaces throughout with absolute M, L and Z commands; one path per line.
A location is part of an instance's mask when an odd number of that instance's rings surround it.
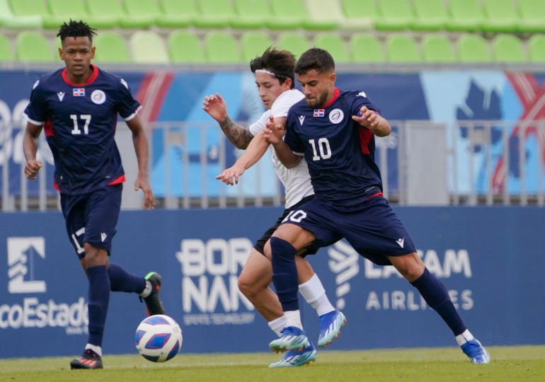
M 464 321 L 461 320 L 454 304 L 452 303 L 447 288 L 435 275 L 425 268 L 422 276 L 411 282 L 418 289 L 428 305 L 444 320 L 454 335 L 460 335 L 466 330 Z

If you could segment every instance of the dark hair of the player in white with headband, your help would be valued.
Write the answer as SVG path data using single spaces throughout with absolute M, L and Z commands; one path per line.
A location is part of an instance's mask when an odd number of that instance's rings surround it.
M 292 79 L 292 89 L 295 88 L 294 68 L 295 57 L 292 52 L 277 50 L 273 47 L 268 47 L 263 54 L 250 62 L 253 74 L 256 73 L 256 70 L 266 70 L 270 71 L 280 83 L 284 83 L 286 79 Z

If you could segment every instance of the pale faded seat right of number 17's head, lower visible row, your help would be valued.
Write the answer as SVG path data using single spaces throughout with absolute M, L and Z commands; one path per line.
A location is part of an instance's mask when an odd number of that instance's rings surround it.
M 151 30 L 138 30 L 130 37 L 132 59 L 138 64 L 168 64 L 168 52 L 161 36 Z

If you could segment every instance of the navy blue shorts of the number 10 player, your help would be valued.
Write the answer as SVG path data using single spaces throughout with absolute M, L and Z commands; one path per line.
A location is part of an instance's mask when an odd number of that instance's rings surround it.
M 322 247 L 344 237 L 360 255 L 377 265 L 391 265 L 387 256 L 408 255 L 415 252 L 411 236 L 401 220 L 381 196 L 362 202 L 352 212 L 338 212 L 313 199 L 295 209 L 282 221 L 311 231 Z

